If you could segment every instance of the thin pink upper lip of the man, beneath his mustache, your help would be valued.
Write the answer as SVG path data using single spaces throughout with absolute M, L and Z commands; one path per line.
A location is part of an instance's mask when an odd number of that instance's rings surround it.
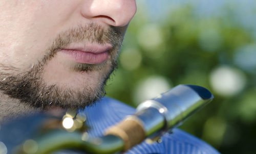
M 80 52 L 100 54 L 108 52 L 112 48 L 111 44 L 71 44 L 65 48 L 65 50 L 77 50 Z

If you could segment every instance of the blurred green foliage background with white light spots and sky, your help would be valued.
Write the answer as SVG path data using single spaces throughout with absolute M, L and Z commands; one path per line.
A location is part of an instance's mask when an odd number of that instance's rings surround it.
M 215 99 L 180 129 L 221 153 L 256 153 L 255 1 L 140 0 L 107 95 L 136 107 L 179 84 Z

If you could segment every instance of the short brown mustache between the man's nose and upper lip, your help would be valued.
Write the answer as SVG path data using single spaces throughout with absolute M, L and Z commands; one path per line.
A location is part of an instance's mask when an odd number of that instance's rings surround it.
M 111 26 L 108 29 L 103 29 L 101 25 L 96 23 L 80 24 L 76 28 L 57 35 L 50 47 L 48 47 L 42 64 L 47 63 L 60 49 L 67 47 L 73 42 L 109 43 L 113 48 L 118 48 L 121 46 L 122 41 L 123 36 L 116 27 Z

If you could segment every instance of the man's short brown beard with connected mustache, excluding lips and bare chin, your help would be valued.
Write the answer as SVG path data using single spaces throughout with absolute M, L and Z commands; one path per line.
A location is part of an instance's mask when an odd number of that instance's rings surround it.
M 72 67 L 72 71 L 92 72 L 101 71 L 110 66 L 108 72 L 101 76 L 96 88 L 88 86 L 79 90 L 74 88 L 61 89 L 56 84 L 48 85 L 42 79 L 47 63 L 59 50 L 72 42 L 110 43 L 113 46 L 109 50 L 107 61 L 101 64 L 77 63 Z M 30 66 L 26 71 L 20 72 L 16 67 L 0 64 L 0 90 L 9 97 L 18 99 L 21 103 L 41 110 L 49 110 L 52 107 L 82 109 L 86 106 L 92 106 L 105 95 L 104 86 L 117 66 L 116 59 L 121 43 L 121 32 L 114 27 L 103 30 L 100 25 L 93 23 L 86 26 L 79 25 L 77 28 L 60 33 L 45 51 L 44 58 L 39 60 L 36 65 Z

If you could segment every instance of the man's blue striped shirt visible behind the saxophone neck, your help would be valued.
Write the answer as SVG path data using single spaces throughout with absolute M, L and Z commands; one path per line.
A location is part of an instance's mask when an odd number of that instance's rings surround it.
M 91 127 L 90 137 L 103 135 L 104 130 L 122 120 L 125 116 L 135 113 L 135 109 L 112 98 L 103 98 L 94 107 L 80 111 L 87 115 L 87 124 Z M 161 143 L 147 144 L 145 142 L 133 147 L 125 154 L 144 153 L 184 153 L 205 154 L 219 153 L 207 143 L 191 136 L 179 129 L 174 129 L 173 134 L 165 134 Z

